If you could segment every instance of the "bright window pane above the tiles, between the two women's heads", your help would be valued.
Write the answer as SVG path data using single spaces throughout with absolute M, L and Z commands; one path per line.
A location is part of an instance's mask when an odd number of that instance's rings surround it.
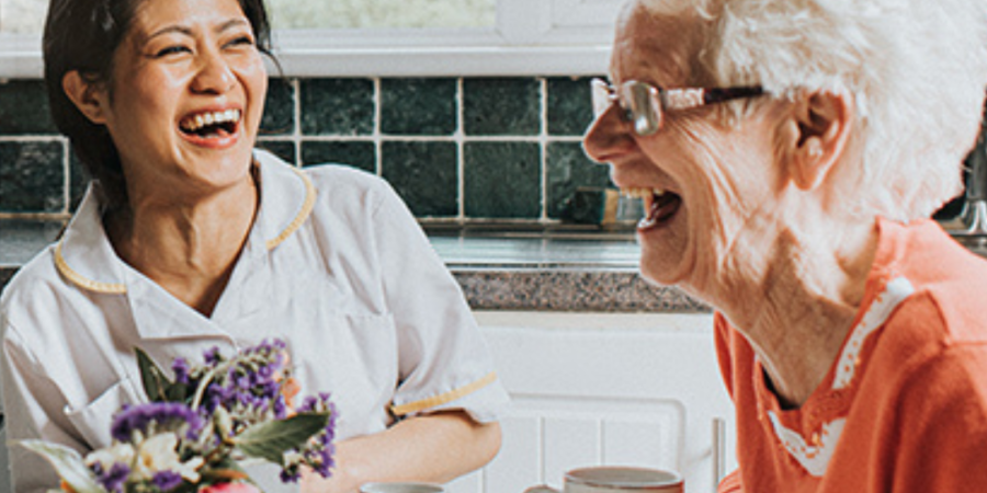
M 492 27 L 497 0 L 268 0 L 274 28 Z

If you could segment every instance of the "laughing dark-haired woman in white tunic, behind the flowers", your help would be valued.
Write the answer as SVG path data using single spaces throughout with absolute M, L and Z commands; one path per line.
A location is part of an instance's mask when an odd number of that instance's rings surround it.
M 442 482 L 494 457 L 507 394 L 396 194 L 254 151 L 261 0 L 53 0 L 44 36 L 55 122 L 97 181 L 3 294 L 9 438 L 104 447 L 112 414 L 146 399 L 135 347 L 167 367 L 279 337 L 339 411 L 333 475 L 303 491 Z M 15 491 L 58 486 L 10 456 Z

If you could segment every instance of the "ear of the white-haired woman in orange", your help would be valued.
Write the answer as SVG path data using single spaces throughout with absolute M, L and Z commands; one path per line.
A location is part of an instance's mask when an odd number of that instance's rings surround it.
M 802 190 L 822 183 L 836 165 L 850 139 L 854 108 L 849 94 L 814 92 L 803 94 L 790 122 L 791 176 Z

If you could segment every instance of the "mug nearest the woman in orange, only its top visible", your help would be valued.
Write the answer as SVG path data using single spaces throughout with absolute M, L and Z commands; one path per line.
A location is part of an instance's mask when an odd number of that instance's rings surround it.
M 595 466 L 566 472 L 563 490 L 542 485 L 525 493 L 684 493 L 677 472 L 621 466 Z

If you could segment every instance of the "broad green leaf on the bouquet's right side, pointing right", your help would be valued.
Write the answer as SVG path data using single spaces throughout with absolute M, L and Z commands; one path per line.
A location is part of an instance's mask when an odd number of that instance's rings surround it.
M 328 422 L 329 413 L 299 413 L 287 420 L 251 426 L 234 442 L 250 457 L 284 466 L 284 452 L 304 447 Z

